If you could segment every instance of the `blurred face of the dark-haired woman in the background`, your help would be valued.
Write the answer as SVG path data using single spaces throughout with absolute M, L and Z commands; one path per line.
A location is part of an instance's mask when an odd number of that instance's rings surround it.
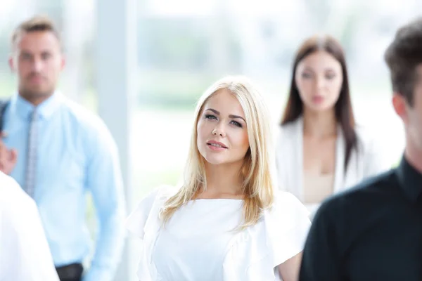
M 306 110 L 332 110 L 343 84 L 341 64 L 326 51 L 316 51 L 300 60 L 295 82 Z

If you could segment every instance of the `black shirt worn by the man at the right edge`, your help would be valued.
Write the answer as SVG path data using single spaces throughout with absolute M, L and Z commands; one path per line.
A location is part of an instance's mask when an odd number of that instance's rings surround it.
M 314 216 L 300 281 L 422 281 L 422 174 L 397 169 L 326 200 Z

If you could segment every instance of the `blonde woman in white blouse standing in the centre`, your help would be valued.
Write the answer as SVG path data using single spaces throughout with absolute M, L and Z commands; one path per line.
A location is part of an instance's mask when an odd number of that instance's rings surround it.
M 310 221 L 276 191 L 267 112 L 242 77 L 205 91 L 181 187 L 154 190 L 127 220 L 143 242 L 139 280 L 298 280 Z

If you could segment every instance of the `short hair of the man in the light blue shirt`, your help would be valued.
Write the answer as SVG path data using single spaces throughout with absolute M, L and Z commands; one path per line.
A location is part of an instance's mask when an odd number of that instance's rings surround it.
M 61 46 L 60 32 L 58 32 L 58 28 L 56 27 L 53 20 L 51 20 L 51 18 L 47 17 L 46 15 L 36 15 L 33 18 L 30 18 L 29 20 L 21 22 L 20 25 L 18 25 L 18 27 L 13 30 L 11 36 L 12 50 L 15 49 L 16 42 L 20 39 L 20 37 L 22 37 L 23 34 L 37 31 L 53 33 L 54 36 L 57 37 Z

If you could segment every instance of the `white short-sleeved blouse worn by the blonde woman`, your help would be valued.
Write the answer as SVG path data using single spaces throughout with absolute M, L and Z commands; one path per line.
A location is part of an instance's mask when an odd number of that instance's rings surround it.
M 277 191 L 260 221 L 238 231 L 243 200 L 234 199 L 188 202 L 163 227 L 158 213 L 176 191 L 154 190 L 127 219 L 127 228 L 143 242 L 139 280 L 281 280 L 277 266 L 302 251 L 308 212 L 288 192 Z

